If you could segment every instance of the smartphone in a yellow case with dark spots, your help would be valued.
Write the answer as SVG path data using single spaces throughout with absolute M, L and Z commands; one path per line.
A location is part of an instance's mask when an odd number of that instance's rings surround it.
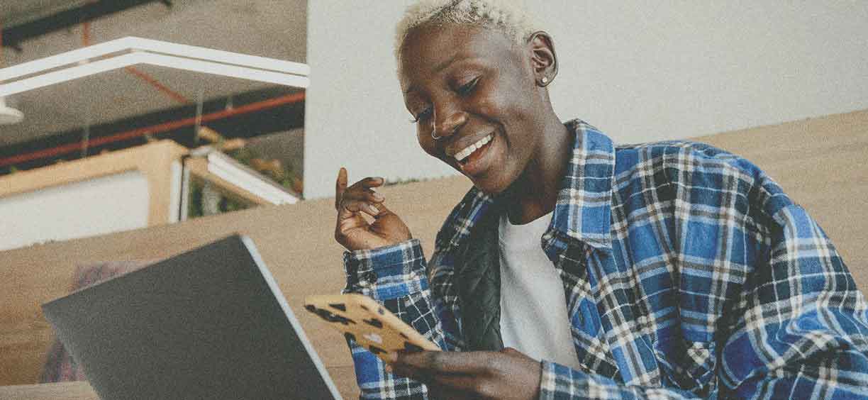
M 365 295 L 308 296 L 305 309 L 384 361 L 396 351 L 440 350 L 437 344 Z

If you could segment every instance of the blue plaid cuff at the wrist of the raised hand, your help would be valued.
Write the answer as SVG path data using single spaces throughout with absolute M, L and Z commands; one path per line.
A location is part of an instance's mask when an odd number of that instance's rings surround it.
M 344 252 L 345 293 L 388 300 L 428 288 L 422 243 L 410 239 L 394 246 Z

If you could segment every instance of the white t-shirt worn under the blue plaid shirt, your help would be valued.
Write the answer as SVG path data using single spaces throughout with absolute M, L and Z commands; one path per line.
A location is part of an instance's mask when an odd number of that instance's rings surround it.
M 525 225 L 500 220 L 500 332 L 503 345 L 537 361 L 579 369 L 561 277 L 542 252 L 548 213 Z

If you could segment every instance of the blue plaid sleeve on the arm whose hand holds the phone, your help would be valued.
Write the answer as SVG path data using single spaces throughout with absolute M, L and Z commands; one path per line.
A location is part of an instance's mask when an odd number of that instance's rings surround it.
M 831 241 L 806 211 L 759 173 L 754 189 L 768 221 L 754 269 L 720 311 L 718 398 L 868 399 L 868 311 Z M 741 245 L 745 245 L 742 243 Z M 687 356 L 690 356 L 688 354 Z M 541 399 L 697 398 L 667 387 L 624 385 L 542 363 Z

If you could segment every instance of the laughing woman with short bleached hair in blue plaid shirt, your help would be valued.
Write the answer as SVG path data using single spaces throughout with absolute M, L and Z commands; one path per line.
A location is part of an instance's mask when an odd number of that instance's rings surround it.
M 426 264 L 383 180 L 341 168 L 345 292 L 447 350 L 385 365 L 351 344 L 363 397 L 868 398 L 865 299 L 819 226 L 732 154 L 563 123 L 525 15 L 423 1 L 398 27 L 419 144 L 474 188 Z

